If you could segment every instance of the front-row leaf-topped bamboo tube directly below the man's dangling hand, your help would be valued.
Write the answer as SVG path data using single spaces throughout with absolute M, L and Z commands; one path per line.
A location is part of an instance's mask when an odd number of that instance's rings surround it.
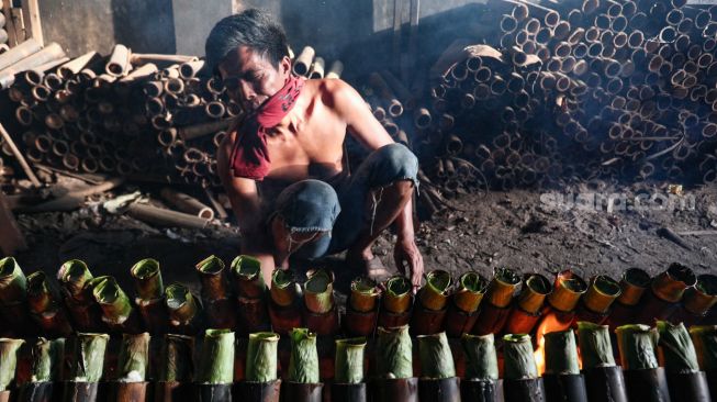
M 377 342 L 378 402 L 418 401 L 418 379 L 413 376 L 413 343 L 408 326 L 379 327 Z

